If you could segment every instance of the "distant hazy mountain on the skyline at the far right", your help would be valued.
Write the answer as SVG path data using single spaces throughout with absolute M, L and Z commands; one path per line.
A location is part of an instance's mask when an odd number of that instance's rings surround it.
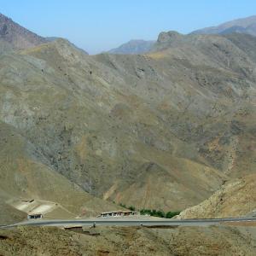
M 256 36 L 256 16 L 231 20 L 219 26 L 211 26 L 192 32 L 193 34 L 227 34 L 232 32 L 247 33 Z

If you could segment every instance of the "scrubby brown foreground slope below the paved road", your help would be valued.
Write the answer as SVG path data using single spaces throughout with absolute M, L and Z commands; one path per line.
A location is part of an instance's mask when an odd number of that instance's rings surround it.
M 255 255 L 255 227 L 96 227 L 0 230 L 0 253 L 11 255 Z

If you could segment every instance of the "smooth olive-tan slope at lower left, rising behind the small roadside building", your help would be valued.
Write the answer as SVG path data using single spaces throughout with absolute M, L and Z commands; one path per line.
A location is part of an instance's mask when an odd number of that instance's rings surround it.
M 113 207 L 88 195 L 78 185 L 52 170 L 43 156 L 39 162 L 36 148 L 15 128 L 1 123 L 0 136 L 1 201 L 9 205 L 18 199 L 53 201 L 73 213 L 73 216 L 96 214 Z M 1 216 L 3 212 L 4 207 L 1 207 Z M 58 217 L 61 218 L 65 212 L 60 212 Z M 11 210 L 9 213 L 12 216 Z

